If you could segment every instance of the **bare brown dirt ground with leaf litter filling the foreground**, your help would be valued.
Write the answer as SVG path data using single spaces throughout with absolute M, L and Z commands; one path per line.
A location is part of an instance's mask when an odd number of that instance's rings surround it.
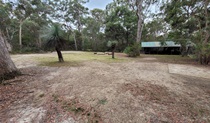
M 12 56 L 23 75 L 0 85 L 1 123 L 210 122 L 210 67 L 155 57 L 47 67 L 36 55 L 50 54 Z

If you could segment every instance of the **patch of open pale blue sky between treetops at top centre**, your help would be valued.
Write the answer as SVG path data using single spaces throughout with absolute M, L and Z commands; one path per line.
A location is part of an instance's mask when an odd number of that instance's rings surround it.
M 90 0 L 85 6 L 90 10 L 94 8 L 99 8 L 105 10 L 106 5 L 111 3 L 113 0 Z

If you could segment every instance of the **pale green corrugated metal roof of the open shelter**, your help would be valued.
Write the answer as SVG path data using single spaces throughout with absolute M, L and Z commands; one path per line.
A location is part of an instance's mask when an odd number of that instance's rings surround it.
M 176 44 L 173 41 L 166 41 L 165 45 L 161 45 L 160 42 L 141 42 L 141 47 L 181 47 L 180 44 Z

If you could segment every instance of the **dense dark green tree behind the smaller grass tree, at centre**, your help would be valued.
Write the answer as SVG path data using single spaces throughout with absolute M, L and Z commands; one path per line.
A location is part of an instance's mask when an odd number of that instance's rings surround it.
M 137 17 L 135 13 L 126 5 L 119 5 L 112 2 L 106 7 L 106 36 L 110 40 L 117 40 L 118 48 L 124 48 L 133 44 L 135 40 Z

